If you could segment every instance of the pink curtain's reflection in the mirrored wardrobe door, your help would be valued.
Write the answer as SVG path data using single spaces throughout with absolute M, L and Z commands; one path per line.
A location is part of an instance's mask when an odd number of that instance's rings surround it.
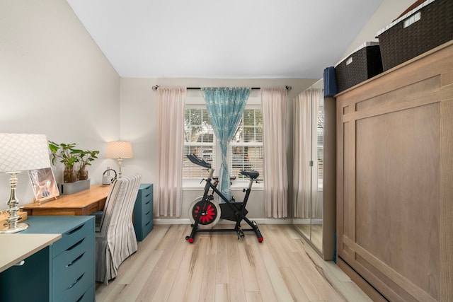
M 318 209 L 317 117 L 321 98 L 323 90 L 314 88 L 294 98 L 292 196 L 295 218 L 314 218 Z M 312 167 L 310 161 L 313 161 Z

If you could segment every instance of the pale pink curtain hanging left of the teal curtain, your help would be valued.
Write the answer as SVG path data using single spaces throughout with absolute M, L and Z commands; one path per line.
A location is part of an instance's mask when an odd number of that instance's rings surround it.
M 156 216 L 180 216 L 186 88 L 157 88 L 159 169 Z

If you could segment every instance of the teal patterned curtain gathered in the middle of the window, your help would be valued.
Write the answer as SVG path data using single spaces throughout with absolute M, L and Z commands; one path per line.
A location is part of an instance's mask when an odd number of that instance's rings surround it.
M 220 165 L 219 179 L 220 192 L 227 199 L 231 199 L 229 170 L 228 170 L 228 145 L 233 139 L 243 108 L 246 107 L 251 88 L 245 87 L 205 87 L 201 88 L 203 98 L 206 101 L 207 115 L 210 118 L 214 134 L 219 140 L 222 153 L 222 165 Z

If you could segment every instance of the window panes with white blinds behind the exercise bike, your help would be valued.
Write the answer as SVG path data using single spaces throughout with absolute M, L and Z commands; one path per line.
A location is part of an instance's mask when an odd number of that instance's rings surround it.
M 185 105 L 184 136 L 183 179 L 200 180 L 206 176 L 202 167 L 188 160 L 186 155 L 189 153 L 204 158 L 219 171 L 221 163 L 216 161 L 216 154 L 220 153 L 220 149 L 207 117 L 206 105 Z M 236 179 L 246 179 L 241 175 L 241 170 L 257 170 L 262 179 L 263 162 L 263 116 L 259 105 L 249 105 L 229 144 L 230 175 L 236 175 Z

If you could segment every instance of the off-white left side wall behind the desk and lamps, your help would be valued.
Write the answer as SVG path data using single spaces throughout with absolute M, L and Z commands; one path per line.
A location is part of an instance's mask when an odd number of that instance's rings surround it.
M 67 1 L 0 1 L 0 132 L 46 134 L 58 143 L 101 151 L 90 167 L 101 182 L 106 141 L 120 135 L 120 77 Z M 54 168 L 62 182 L 62 164 Z M 18 175 L 20 204 L 33 199 L 27 173 Z M 9 197 L 0 173 L 0 209 Z

